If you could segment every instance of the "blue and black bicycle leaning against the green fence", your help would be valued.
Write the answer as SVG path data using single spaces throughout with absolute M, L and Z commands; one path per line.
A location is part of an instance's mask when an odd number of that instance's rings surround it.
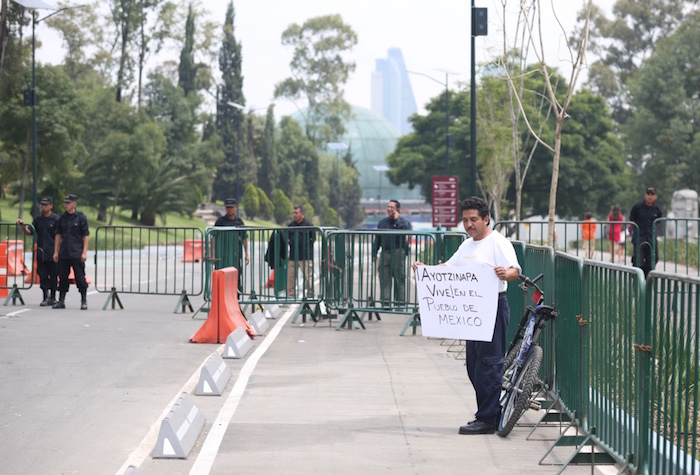
M 539 404 L 534 401 L 537 394 L 534 391 L 535 383 L 542 363 L 542 347 L 537 344 L 537 339 L 545 322 L 557 316 L 553 307 L 544 305 L 544 292 L 537 285 L 542 277 L 544 274 L 530 280 L 520 274 L 523 281 L 520 288 L 524 292 L 528 288 L 535 290 L 532 296 L 535 307 L 528 305 L 506 353 L 500 399 L 501 419 L 498 423 L 498 435 L 501 437 L 510 434 L 526 409 L 539 409 Z

